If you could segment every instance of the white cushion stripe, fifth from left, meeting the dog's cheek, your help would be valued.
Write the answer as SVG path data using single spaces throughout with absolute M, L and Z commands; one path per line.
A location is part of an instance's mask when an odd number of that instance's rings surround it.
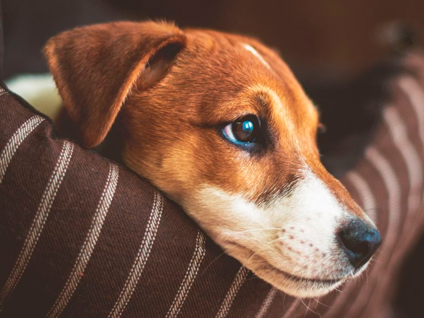
M 169 307 L 169 310 L 166 313 L 167 318 L 176 317 L 179 314 L 185 299 L 187 298 L 188 291 L 193 285 L 197 272 L 199 271 L 200 264 L 203 260 L 203 257 L 205 256 L 205 241 L 206 238 L 204 234 L 201 230 L 198 230 L 196 238 L 196 248 L 193 253 L 193 257 L 190 260 L 187 271 L 185 272 L 184 279 L 181 282 L 180 288 L 178 288 L 177 295 L 175 296 L 171 307 Z

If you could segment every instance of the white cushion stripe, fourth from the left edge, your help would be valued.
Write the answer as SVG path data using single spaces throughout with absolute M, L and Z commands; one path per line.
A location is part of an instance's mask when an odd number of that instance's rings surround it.
M 159 193 L 155 192 L 155 199 L 153 202 L 152 212 L 150 214 L 149 222 L 147 222 L 143 241 L 141 243 L 140 249 L 138 250 L 137 257 L 133 263 L 133 266 L 131 267 L 130 274 L 128 275 L 125 285 L 122 288 L 121 293 L 119 294 L 118 300 L 116 301 L 111 312 L 109 313 L 109 317 L 120 317 L 126 305 L 131 299 L 131 296 L 141 277 L 141 273 L 144 269 L 147 259 L 149 258 L 153 243 L 155 242 L 160 218 L 162 216 L 162 209 L 163 198 Z

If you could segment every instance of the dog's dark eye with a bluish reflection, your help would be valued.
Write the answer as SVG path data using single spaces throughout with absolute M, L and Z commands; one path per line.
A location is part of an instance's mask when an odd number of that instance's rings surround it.
M 230 141 L 253 143 L 260 133 L 259 120 L 256 116 L 245 116 L 227 124 L 222 131 Z

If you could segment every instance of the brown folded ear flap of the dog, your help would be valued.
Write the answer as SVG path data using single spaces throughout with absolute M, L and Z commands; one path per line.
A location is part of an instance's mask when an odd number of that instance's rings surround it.
M 80 27 L 48 41 L 51 73 L 84 146 L 104 139 L 134 83 L 158 82 L 184 45 L 182 30 L 155 22 Z

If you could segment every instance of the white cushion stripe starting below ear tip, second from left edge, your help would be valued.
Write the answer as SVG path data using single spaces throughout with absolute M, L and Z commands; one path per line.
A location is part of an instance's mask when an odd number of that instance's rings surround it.
M 20 250 L 15 265 L 13 266 L 6 284 L 0 293 L 0 309 L 2 308 L 7 296 L 9 296 L 13 289 L 16 287 L 28 265 L 28 262 L 32 256 L 32 252 L 34 251 L 34 248 L 38 242 L 38 238 L 40 237 L 41 231 L 43 231 L 47 217 L 49 216 L 50 208 L 52 207 L 54 198 L 56 197 L 57 190 L 59 189 L 60 183 L 65 176 L 73 150 L 73 143 L 69 141 L 63 142 L 59 159 L 56 163 L 56 166 L 54 167 L 49 182 L 47 183 L 40 204 L 38 205 L 35 218 L 32 221 L 28 235 L 24 242 L 24 246 Z

